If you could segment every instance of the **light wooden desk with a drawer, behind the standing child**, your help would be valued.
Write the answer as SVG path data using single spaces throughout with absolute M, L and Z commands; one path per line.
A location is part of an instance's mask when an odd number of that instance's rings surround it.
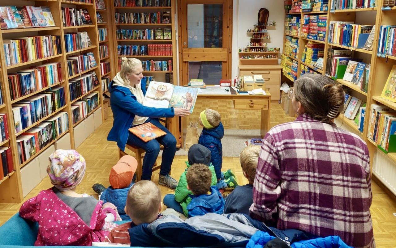
M 207 85 L 213 86 L 213 85 Z M 266 90 L 267 95 L 245 95 L 238 94 L 236 95 L 207 95 L 207 94 L 198 94 L 198 99 L 208 99 L 208 100 L 232 100 L 234 104 L 234 108 L 237 110 L 261 110 L 261 118 L 260 118 L 260 135 L 263 138 L 265 134 L 269 130 L 270 125 L 270 107 L 271 107 L 271 94 Z M 200 111 L 200 110 L 194 110 Z M 182 144 L 181 147 L 184 147 L 183 140 L 183 131 L 187 129 L 187 119 L 181 118 L 181 137 Z

